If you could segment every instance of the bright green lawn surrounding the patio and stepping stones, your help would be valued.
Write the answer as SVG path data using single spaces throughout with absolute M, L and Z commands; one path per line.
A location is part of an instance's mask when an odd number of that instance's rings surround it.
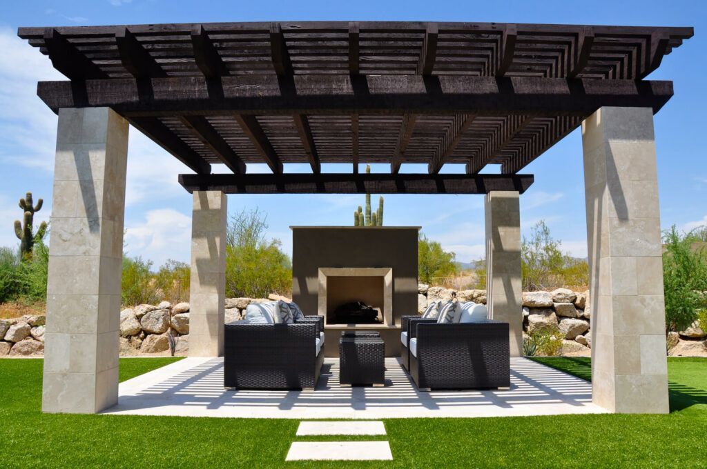
M 121 359 L 120 379 L 173 359 Z M 542 359 L 581 376 L 587 359 Z M 284 463 L 296 420 L 40 413 L 42 360 L 0 360 L 0 465 L 14 467 L 705 467 L 707 359 L 670 359 L 670 415 L 386 420 L 392 463 Z M 321 441 L 321 437 L 310 438 Z M 338 439 L 335 437 L 329 439 Z M 368 439 L 368 438 L 366 438 Z

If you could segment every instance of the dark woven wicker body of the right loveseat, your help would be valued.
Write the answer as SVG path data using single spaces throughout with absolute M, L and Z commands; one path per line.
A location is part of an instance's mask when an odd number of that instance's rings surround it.
M 510 387 L 508 323 L 409 319 L 409 372 L 421 389 Z

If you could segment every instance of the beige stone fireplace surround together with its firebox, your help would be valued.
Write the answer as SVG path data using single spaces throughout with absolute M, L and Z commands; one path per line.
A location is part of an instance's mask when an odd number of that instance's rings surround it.
M 319 269 L 319 311 L 325 324 L 392 324 L 392 268 L 322 267 Z M 342 309 L 356 309 L 355 303 L 370 307 L 377 314 L 351 314 L 344 319 Z M 346 308 L 349 307 L 349 308 Z M 358 316 L 358 320 L 356 319 Z

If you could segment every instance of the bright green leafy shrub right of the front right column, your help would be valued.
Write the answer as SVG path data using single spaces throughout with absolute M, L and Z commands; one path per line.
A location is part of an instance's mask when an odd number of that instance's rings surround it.
M 692 249 L 694 233 L 681 234 L 674 226 L 663 233 L 665 324 L 671 331 L 686 328 L 707 307 L 701 294 L 707 290 L 707 256 L 704 249 Z

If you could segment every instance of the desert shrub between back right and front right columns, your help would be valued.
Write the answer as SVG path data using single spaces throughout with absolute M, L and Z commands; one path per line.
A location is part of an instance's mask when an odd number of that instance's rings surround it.
M 589 265 L 560 250 L 544 221 L 531 229 L 530 239 L 522 237 L 520 246 L 523 291 L 573 287 L 584 290 L 589 284 Z

